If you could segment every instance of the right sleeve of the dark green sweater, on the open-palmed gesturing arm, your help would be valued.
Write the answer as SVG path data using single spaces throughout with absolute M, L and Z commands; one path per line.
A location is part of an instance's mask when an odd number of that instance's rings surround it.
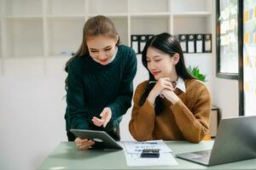
M 123 116 L 125 112 L 131 107 L 131 98 L 133 94 L 132 81 L 137 71 L 137 57 L 133 50 L 131 50 L 129 59 L 126 60 L 124 66 L 124 73 L 122 82 L 119 86 L 119 96 L 108 107 L 112 111 L 112 120 L 115 121 L 119 116 Z

